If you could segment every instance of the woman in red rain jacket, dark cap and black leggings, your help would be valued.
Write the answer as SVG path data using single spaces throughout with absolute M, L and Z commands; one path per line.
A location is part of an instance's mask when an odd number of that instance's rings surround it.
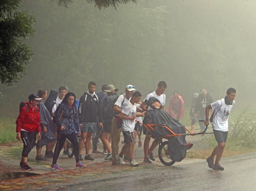
M 19 165 L 22 170 L 27 171 L 33 170 L 28 166 L 27 159 L 28 154 L 36 145 L 36 134 L 38 135 L 38 140 L 41 139 L 40 113 L 37 105 L 42 98 L 36 94 L 30 94 L 28 99 L 29 102 L 24 103 L 24 106 L 20 108 L 20 113 L 16 120 L 16 139 L 19 141 L 22 139 L 23 142 L 22 157 Z

